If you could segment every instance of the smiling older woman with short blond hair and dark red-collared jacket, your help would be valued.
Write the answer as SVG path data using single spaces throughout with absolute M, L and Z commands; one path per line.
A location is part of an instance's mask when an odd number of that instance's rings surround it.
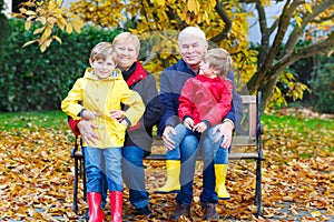
M 143 159 L 150 153 L 153 143 L 151 131 L 163 115 L 163 104 L 156 88 L 156 79 L 149 74 L 138 61 L 140 42 L 136 34 L 124 32 L 118 34 L 112 42 L 118 54 L 118 68 L 131 90 L 137 91 L 146 107 L 146 111 L 136 127 L 127 130 L 122 148 L 122 176 L 129 190 L 129 199 L 136 208 L 138 215 L 150 215 L 148 192 L 145 188 L 145 171 Z M 124 108 L 127 109 L 127 108 Z M 114 112 L 114 118 L 122 119 L 124 111 Z M 98 140 L 94 132 L 96 125 L 88 121 L 69 124 L 75 133 L 81 133 L 82 140 L 94 143 Z M 102 195 L 106 190 L 101 188 Z M 111 212 L 112 212 L 111 205 Z

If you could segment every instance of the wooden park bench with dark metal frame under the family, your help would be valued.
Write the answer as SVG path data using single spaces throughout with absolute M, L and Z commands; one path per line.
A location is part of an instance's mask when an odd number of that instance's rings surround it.
M 243 120 L 242 130 L 236 130 L 233 135 L 232 149 L 228 154 L 229 160 L 245 160 L 250 159 L 256 161 L 256 186 L 255 186 L 255 204 L 257 205 L 256 215 L 262 214 L 262 172 L 261 165 L 263 159 L 262 151 L 262 134 L 263 125 L 261 123 L 261 92 L 257 95 L 242 95 L 243 99 Z M 155 148 L 163 145 L 160 137 L 155 137 L 153 143 L 153 152 L 146 157 L 145 160 L 165 161 L 166 149 L 157 152 Z M 86 172 L 84 164 L 84 154 L 81 152 L 78 138 L 76 138 L 75 148 L 71 152 L 71 158 L 75 159 L 75 184 L 73 184 L 73 205 L 72 210 L 78 211 L 78 183 L 79 178 L 82 179 L 84 196 L 86 198 Z

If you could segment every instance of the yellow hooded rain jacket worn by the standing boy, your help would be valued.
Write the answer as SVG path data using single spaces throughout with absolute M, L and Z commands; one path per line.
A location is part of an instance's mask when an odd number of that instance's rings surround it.
M 91 120 L 98 129 L 95 132 L 100 138 L 95 148 L 117 148 L 124 145 L 126 125 L 110 118 L 111 110 L 121 110 L 121 103 L 127 105 L 125 118 L 136 125 L 145 112 L 140 95 L 128 88 L 120 70 L 115 70 L 110 77 L 99 80 L 88 68 L 84 78 L 76 81 L 67 98 L 61 102 L 61 110 L 73 120 L 79 120 L 82 109 L 100 113 Z M 88 144 L 84 143 L 84 147 Z

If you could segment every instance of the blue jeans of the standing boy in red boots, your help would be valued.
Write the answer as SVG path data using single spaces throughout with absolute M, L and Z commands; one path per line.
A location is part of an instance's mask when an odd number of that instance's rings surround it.
M 122 191 L 121 148 L 85 148 L 87 193 L 102 191 L 105 175 L 109 191 Z

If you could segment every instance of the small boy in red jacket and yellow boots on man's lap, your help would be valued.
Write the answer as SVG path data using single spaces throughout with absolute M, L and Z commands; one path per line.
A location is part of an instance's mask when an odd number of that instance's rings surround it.
M 224 49 L 212 49 L 204 56 L 199 73 L 190 78 L 183 87 L 179 97 L 178 117 L 181 121 L 175 128 L 176 134 L 169 134 L 175 147 L 167 151 L 167 181 L 157 189 L 158 193 L 176 192 L 180 189 L 180 150 L 179 144 L 186 135 L 200 138 L 202 145 L 205 138 L 216 124 L 219 124 L 232 108 L 233 82 L 225 79 L 232 70 L 233 61 Z M 225 188 L 228 165 L 228 150 L 217 144 L 215 149 L 216 192 L 219 199 L 229 199 Z

